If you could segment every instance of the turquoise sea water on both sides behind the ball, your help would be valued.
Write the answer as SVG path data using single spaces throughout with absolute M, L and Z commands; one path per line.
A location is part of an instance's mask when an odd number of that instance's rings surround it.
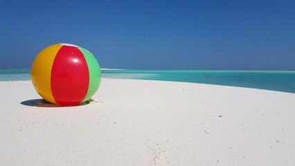
M 102 77 L 240 86 L 295 93 L 295 71 L 103 70 Z M 29 69 L 0 69 L 0 81 L 30 80 Z

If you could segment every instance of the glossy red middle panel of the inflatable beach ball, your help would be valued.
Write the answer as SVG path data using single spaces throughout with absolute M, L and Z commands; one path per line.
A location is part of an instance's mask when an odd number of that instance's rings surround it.
M 87 94 L 89 71 L 81 51 L 75 46 L 62 46 L 51 70 L 51 91 L 57 104 L 78 105 Z

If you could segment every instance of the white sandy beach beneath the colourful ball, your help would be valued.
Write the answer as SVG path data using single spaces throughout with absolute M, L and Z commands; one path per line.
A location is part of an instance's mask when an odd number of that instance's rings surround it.
M 28 106 L 29 81 L 0 93 L 0 165 L 295 165 L 294 93 L 110 79 L 80 107 Z

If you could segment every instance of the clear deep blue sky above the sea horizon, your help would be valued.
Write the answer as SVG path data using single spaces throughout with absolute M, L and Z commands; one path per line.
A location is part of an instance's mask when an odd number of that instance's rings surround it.
M 0 68 L 56 43 L 102 68 L 295 70 L 295 1 L 0 0 Z

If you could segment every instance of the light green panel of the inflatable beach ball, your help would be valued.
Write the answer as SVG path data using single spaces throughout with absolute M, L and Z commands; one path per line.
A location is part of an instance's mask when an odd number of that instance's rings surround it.
M 80 46 L 78 46 L 78 48 L 86 59 L 89 71 L 89 87 L 84 100 L 81 102 L 83 103 L 89 100 L 98 90 L 101 81 L 101 71 L 96 57 L 94 57 L 88 50 Z

